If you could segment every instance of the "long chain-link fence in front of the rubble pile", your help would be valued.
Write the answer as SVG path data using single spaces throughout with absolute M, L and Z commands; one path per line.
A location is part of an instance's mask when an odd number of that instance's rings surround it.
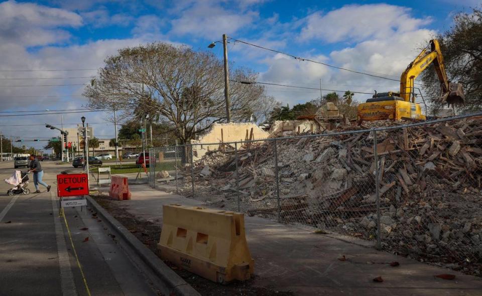
M 480 275 L 481 114 L 150 153 L 152 187 Z

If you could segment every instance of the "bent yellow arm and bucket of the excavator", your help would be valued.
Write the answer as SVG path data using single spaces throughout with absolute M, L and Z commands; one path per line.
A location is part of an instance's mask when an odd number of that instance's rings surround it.
M 422 73 L 430 64 L 434 64 L 438 79 L 440 80 L 441 99 L 450 104 L 463 104 L 464 95 L 461 84 L 450 83 L 447 79 L 443 56 L 440 45 L 436 39 L 430 41 L 430 52 L 425 48 L 415 60 L 408 65 L 400 78 L 400 96 L 406 102 L 415 103 L 415 78 Z

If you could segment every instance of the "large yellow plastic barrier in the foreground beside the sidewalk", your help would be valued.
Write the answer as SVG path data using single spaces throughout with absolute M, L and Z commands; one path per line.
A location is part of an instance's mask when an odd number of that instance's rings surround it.
M 158 248 L 163 259 L 215 282 L 246 280 L 253 274 L 255 261 L 240 213 L 164 205 Z

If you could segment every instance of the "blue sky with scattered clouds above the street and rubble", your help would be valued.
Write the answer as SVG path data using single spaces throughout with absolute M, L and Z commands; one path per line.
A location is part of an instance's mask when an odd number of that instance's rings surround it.
M 167 42 L 212 51 L 222 58 L 222 46 L 207 48 L 222 34 L 232 38 L 228 57 L 233 66 L 255 70 L 260 82 L 319 88 L 321 81 L 323 89 L 342 92 L 397 90 L 395 81 L 295 60 L 233 40 L 399 79 L 432 36 L 450 28 L 455 14 L 480 4 L 479 0 L 0 2 L 0 131 L 14 141 L 46 140 L 58 135 L 44 124 L 60 126 L 58 113 L 63 112 L 63 127 L 75 127 L 83 115 L 96 137 L 113 138 L 108 113 L 51 111 L 57 114 L 20 116 L 12 111 L 84 109 L 84 84 L 118 49 Z M 319 90 L 279 86 L 266 90 L 290 106 L 320 96 Z M 356 94 L 355 100 L 367 96 Z M 41 149 L 46 142 L 16 144 Z

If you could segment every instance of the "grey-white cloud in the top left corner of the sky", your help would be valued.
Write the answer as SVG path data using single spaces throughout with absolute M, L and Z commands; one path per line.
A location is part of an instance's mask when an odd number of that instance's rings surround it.
M 79 27 L 82 18 L 62 9 L 8 1 L 0 4 L 0 42 L 42 46 L 69 39 L 61 27 Z

